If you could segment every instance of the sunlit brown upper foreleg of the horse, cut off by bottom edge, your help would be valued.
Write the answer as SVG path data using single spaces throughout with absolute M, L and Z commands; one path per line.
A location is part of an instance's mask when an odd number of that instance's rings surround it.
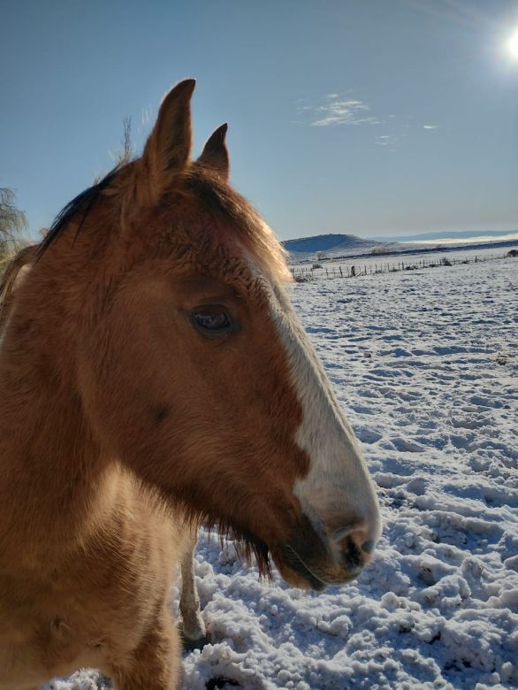
M 109 675 L 116 690 L 175 690 L 179 679 L 179 639 L 170 614 L 161 617 L 124 665 Z

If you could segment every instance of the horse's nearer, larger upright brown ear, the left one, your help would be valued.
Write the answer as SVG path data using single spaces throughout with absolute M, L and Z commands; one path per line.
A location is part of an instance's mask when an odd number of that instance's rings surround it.
M 187 165 L 191 154 L 191 96 L 196 81 L 180 81 L 164 96 L 156 124 L 144 147 L 142 162 L 159 193 Z

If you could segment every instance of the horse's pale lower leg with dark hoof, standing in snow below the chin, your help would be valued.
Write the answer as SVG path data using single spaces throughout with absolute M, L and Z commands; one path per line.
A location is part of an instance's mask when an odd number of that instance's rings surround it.
M 194 532 L 181 559 L 182 587 L 179 609 L 182 616 L 181 632 L 186 649 L 201 649 L 209 641 L 200 609 L 200 597 L 194 581 L 193 558 L 197 540 L 197 534 Z

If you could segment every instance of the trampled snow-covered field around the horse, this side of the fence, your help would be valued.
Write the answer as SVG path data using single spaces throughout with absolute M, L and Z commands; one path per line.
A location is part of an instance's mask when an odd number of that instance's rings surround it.
M 294 286 L 377 483 L 377 559 L 311 594 L 202 533 L 212 643 L 182 690 L 518 687 L 517 295 L 515 259 Z

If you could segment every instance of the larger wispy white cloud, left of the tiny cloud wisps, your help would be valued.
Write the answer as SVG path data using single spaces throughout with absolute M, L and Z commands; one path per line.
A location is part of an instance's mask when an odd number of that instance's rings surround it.
M 369 114 L 369 104 L 356 98 L 344 98 L 333 93 L 315 103 L 297 103 L 297 110 L 303 116 L 302 122 L 310 126 L 381 125 L 380 119 Z

